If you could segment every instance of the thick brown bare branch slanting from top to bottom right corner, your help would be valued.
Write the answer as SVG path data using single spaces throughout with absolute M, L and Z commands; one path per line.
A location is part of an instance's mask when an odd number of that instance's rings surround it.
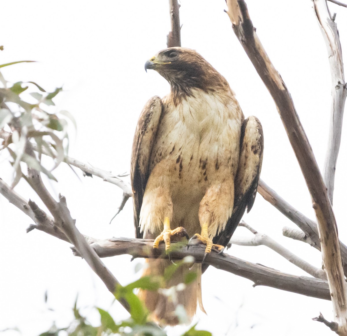
M 255 33 L 245 1 L 227 0 L 227 5 L 232 28 L 276 103 L 290 144 L 311 193 L 321 238 L 324 269 L 328 276 L 333 312 L 338 323 L 338 333 L 347 335 L 347 287 L 342 268 L 336 219 L 327 189 L 288 89 Z

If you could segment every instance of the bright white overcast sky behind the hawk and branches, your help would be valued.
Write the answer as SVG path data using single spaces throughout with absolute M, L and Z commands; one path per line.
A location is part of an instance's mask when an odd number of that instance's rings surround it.
M 322 34 L 311 1 L 247 0 L 249 14 L 270 59 L 285 81 L 306 134 L 322 169 L 328 138 L 330 71 Z M 0 64 L 36 60 L 2 69 L 5 79 L 35 81 L 46 91 L 64 85 L 55 99 L 56 110 L 68 110 L 77 122 L 71 127 L 70 156 L 115 174 L 129 171 L 131 145 L 139 113 L 146 101 L 169 92 L 169 84 L 144 63 L 166 48 L 170 29 L 168 1 L 3 1 Z M 347 57 L 347 9 L 329 3 L 337 12 L 342 52 Z M 265 138 L 261 177 L 303 214 L 314 218 L 310 195 L 267 89 L 223 12 L 224 1 L 181 0 L 182 46 L 196 49 L 227 78 L 245 116 L 262 122 Z M 344 127 L 346 130 L 346 127 Z M 347 243 L 345 226 L 346 132 L 337 164 L 334 211 L 339 236 Z M 134 236 L 132 202 L 109 225 L 122 191 L 98 178 L 81 180 L 64 164 L 54 171 L 59 183 L 48 182 L 53 195 L 67 198 L 78 229 L 96 238 Z M 0 156 L 0 177 L 12 177 L 8 155 Z M 15 190 L 43 207 L 21 181 Z M 43 207 L 44 208 L 44 207 Z M 110 309 L 119 320 L 128 316 L 84 260 L 74 257 L 69 244 L 39 231 L 25 233 L 31 219 L 0 197 L 0 330 L 18 327 L 23 335 L 38 335 L 55 320 L 65 327 L 78 293 L 78 306 L 95 324 L 94 305 Z M 258 194 L 244 216 L 264 232 L 315 266 L 319 252 L 282 236 L 282 227 L 296 227 Z M 244 228 L 236 235 L 249 235 Z M 307 275 L 265 247 L 232 246 L 228 253 L 283 272 Z M 127 284 L 139 277 L 129 256 L 103 260 L 116 278 Z M 209 267 L 203 276 L 203 301 L 208 316 L 198 313 L 198 328 L 213 335 L 328 335 L 311 318 L 321 311 L 332 319 L 329 301 L 252 287 L 247 279 Z M 44 293 L 48 291 L 48 303 Z M 54 309 L 54 312 L 47 308 Z M 169 329 L 178 335 L 186 328 Z M 6 336 L 18 335 L 7 331 Z

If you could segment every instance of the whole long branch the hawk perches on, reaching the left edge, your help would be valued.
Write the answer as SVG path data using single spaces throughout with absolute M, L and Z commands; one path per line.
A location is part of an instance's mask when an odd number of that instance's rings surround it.
M 46 215 L 42 209 L 36 206 L 34 202 L 30 202 L 29 206 L 29 204 L 22 197 L 20 197 L 17 193 L 11 190 L 11 188 L 1 179 L 0 193 L 3 196 L 5 196 L 10 201 L 10 203 L 16 205 L 17 208 L 22 210 L 25 214 L 28 214 L 29 217 L 31 217 L 35 221 L 36 224 L 34 226 L 29 226 L 28 231 L 31 231 L 35 228 L 37 230 L 49 233 L 64 241 L 71 242 L 76 247 L 76 253 L 78 255 L 82 254 L 81 251 L 84 251 L 84 246 L 81 246 L 81 237 L 75 237 L 76 233 L 73 232 L 69 234 L 68 238 L 68 233 L 64 233 L 65 230 L 60 230 L 58 228 L 59 225 L 54 224 L 55 222 L 50 216 Z M 63 200 L 63 202 L 66 203 L 65 200 Z M 64 203 L 63 206 L 66 207 Z M 35 208 L 34 211 L 32 210 L 32 208 Z M 59 209 L 57 211 L 59 211 Z M 64 213 L 67 213 L 67 211 L 68 210 L 66 208 L 66 210 L 64 210 Z M 35 213 L 39 215 L 37 215 L 36 217 Z M 66 216 L 64 216 L 67 222 L 73 222 L 73 220 L 69 219 L 69 217 L 70 215 L 68 213 L 66 214 Z M 74 227 L 74 223 L 70 223 L 68 225 Z M 70 238 L 71 236 L 73 238 Z M 153 250 L 152 248 L 152 240 L 137 240 L 130 238 L 111 238 L 106 240 L 97 240 L 88 236 L 83 237 L 86 242 L 88 242 L 89 244 L 92 243 L 91 246 L 93 250 L 95 250 L 95 252 L 99 255 L 99 257 L 111 257 L 122 254 L 130 254 L 134 258 L 158 257 L 155 254 L 157 253 L 156 250 Z M 176 243 L 172 244 L 174 246 L 174 244 Z M 204 250 L 200 246 L 190 247 L 189 252 L 186 248 L 184 248 L 183 250 L 176 251 L 174 247 L 172 250 L 172 258 L 177 259 L 184 258 L 187 255 L 193 255 L 195 260 L 202 261 L 202 258 L 204 256 Z M 162 248 L 162 246 L 160 246 L 158 252 L 159 255 L 161 255 L 163 251 L 164 249 Z M 162 257 L 167 258 L 166 255 L 163 255 Z M 94 261 L 92 260 L 90 262 L 93 264 Z M 281 290 L 286 290 L 295 293 L 297 292 L 299 294 L 307 296 L 313 296 L 316 298 L 330 300 L 328 284 L 327 282 L 324 282 L 321 279 L 297 277 L 294 275 L 281 273 L 272 268 L 252 264 L 250 262 L 237 259 L 229 255 L 216 255 L 215 253 L 212 253 L 210 257 L 206 258 L 206 262 L 216 268 L 220 268 L 226 270 L 227 272 L 231 272 L 236 275 L 250 279 L 254 282 L 255 285 L 270 286 Z M 109 287 L 110 285 L 108 286 L 108 288 Z

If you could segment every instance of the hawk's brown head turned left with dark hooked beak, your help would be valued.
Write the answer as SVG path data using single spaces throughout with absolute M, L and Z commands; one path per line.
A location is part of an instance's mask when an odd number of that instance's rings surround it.
M 172 47 L 159 51 L 145 63 L 145 70 L 153 69 L 171 85 L 175 98 L 191 94 L 192 89 L 205 92 L 229 89 L 226 79 L 195 50 Z

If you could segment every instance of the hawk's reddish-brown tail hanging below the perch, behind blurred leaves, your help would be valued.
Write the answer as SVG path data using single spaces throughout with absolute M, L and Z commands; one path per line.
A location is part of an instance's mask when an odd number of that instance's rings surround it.
M 143 276 L 162 276 L 165 268 L 172 265 L 169 260 L 163 259 L 146 259 L 146 262 L 148 267 Z M 204 311 L 201 301 L 201 264 L 194 264 L 190 269 L 189 266 L 191 265 L 180 265 L 166 282 L 165 288 L 159 291 L 139 291 L 138 295 L 150 311 L 151 319 L 161 326 L 189 323 L 196 312 L 197 301 Z M 197 272 L 197 279 L 189 284 L 180 285 L 187 279 L 187 274 L 194 271 Z M 176 314 L 179 305 L 186 310 L 186 321 L 180 320 Z

